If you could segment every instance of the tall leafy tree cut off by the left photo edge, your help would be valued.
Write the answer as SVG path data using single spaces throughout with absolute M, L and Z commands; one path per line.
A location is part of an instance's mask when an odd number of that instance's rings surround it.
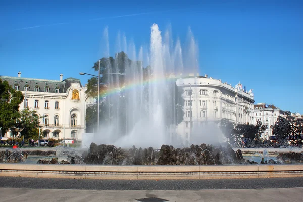
M 23 101 L 22 92 L 16 91 L 7 81 L 0 79 L 0 128 L 2 134 L 16 128 L 20 117 L 19 105 Z

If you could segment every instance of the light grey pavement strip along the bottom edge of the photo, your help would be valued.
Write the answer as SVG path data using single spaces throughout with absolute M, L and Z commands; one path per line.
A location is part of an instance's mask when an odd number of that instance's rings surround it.
M 256 187 L 257 188 L 257 187 Z M 229 190 L 62 190 L 0 188 L 0 201 L 138 201 L 158 197 L 160 201 L 302 201 L 303 188 L 229 189 Z M 142 200 L 144 201 L 144 200 Z M 145 200 L 145 202 L 157 200 Z

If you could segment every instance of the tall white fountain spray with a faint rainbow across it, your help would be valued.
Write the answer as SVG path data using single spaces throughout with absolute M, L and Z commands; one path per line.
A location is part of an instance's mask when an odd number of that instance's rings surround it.
M 108 56 L 110 50 L 107 28 L 104 34 L 105 54 Z M 179 92 L 174 88 L 175 78 L 172 75 L 180 75 L 185 67 L 186 71 L 197 71 L 198 53 L 197 45 L 189 30 L 188 44 L 185 45 L 186 57 L 190 55 L 187 66 L 186 62 L 183 62 L 180 40 L 177 39 L 173 46 L 171 35 L 168 30 L 162 39 L 158 25 L 153 24 L 149 50 L 146 51 L 141 46 L 137 53 L 135 44 L 133 42 L 127 44 L 126 37 L 123 35 L 121 39 L 121 34 L 118 34 L 117 50 L 124 48 L 133 62 L 125 63 L 125 72 L 123 72 L 125 86 L 120 87 L 119 90 L 117 84 L 113 82 L 118 79 L 117 75 L 109 76 L 109 88 L 117 88 L 115 95 L 108 94 L 104 98 L 114 106 L 109 107 L 108 118 L 105 119 L 111 121 L 101 123 L 100 131 L 95 135 L 93 142 L 122 147 L 136 145 L 155 148 L 159 148 L 162 144 L 180 145 L 184 142 L 182 139 L 172 140 L 170 136 L 176 133 L 175 117 L 181 116 L 176 112 L 175 94 Z M 147 62 L 150 67 L 144 68 L 142 61 Z M 115 72 L 119 71 L 117 67 L 112 66 L 111 69 Z M 120 94 L 119 97 L 117 94 Z

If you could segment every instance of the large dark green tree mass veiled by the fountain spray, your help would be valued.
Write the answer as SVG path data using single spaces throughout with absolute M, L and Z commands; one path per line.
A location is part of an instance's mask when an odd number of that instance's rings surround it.
M 133 92 L 125 91 L 123 88 L 127 83 L 132 83 L 133 80 L 142 79 L 144 98 L 148 98 L 148 80 L 153 75 L 150 66 L 143 68 L 142 61 L 132 61 L 128 58 L 127 54 L 124 52 L 117 53 L 115 58 L 102 58 L 100 59 L 100 73 L 125 73 L 125 75 L 103 75 L 100 77 L 100 120 L 103 122 L 111 122 L 115 120 L 121 123 L 116 123 L 120 126 L 120 132 L 127 133 L 127 129 L 131 129 L 131 126 L 127 128 L 127 114 L 126 106 L 129 102 L 132 102 L 130 97 L 133 96 Z M 94 63 L 92 67 L 95 71 L 99 69 L 98 61 Z M 130 79 L 129 81 L 126 79 Z M 97 96 L 98 94 L 98 79 L 91 78 L 88 80 L 86 93 L 89 96 Z M 166 125 L 179 124 L 183 120 L 184 112 L 183 105 L 184 99 L 182 98 L 182 89 L 178 88 L 175 80 L 167 81 L 166 87 L 168 89 L 168 94 L 165 95 L 165 121 Z M 165 86 L 164 86 L 165 87 Z M 117 93 L 108 94 L 108 90 L 117 90 Z M 118 89 L 120 88 L 120 93 Z M 148 103 L 143 102 L 143 105 L 148 105 Z M 146 106 L 144 106 L 146 107 Z M 145 108 L 144 108 L 145 109 Z M 147 109 L 147 107 L 146 107 Z M 173 113 L 171 113 L 173 112 Z M 144 112 L 142 112 L 144 113 Z M 87 127 L 93 126 L 96 123 L 97 117 L 96 107 L 89 108 L 86 111 L 86 125 Z

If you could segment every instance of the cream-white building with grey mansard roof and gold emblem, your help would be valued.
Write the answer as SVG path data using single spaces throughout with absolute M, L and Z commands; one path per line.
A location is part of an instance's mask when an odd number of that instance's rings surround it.
M 0 76 L 0 79 L 22 92 L 24 101 L 19 110 L 28 107 L 40 115 L 44 138 L 82 140 L 87 95 L 79 79 L 63 80 L 63 74 L 60 80 L 23 78 L 21 72 L 18 77 Z M 18 132 L 13 131 L 1 134 L 4 140 L 17 135 Z

